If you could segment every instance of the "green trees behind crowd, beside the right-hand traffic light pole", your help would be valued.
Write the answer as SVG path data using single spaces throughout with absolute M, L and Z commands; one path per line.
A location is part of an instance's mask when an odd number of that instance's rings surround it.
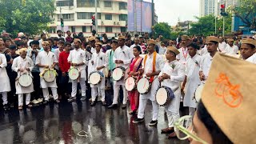
M 198 35 L 203 34 L 205 36 L 208 36 L 210 34 L 215 34 L 215 17 L 213 15 L 205 16 L 202 18 L 198 18 L 198 22 L 192 23 L 192 28 L 189 30 L 189 34 Z M 223 28 L 223 20 L 222 18 L 216 19 L 217 21 L 217 34 L 222 33 Z M 225 34 L 231 32 L 231 23 L 232 18 L 231 14 L 229 14 L 227 17 L 225 17 Z M 219 30 L 220 29 L 220 30 Z

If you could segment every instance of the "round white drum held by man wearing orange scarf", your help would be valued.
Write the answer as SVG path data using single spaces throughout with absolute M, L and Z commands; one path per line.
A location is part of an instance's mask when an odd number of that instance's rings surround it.
M 141 78 L 137 84 L 139 94 L 146 94 L 150 91 L 151 83 L 148 78 Z

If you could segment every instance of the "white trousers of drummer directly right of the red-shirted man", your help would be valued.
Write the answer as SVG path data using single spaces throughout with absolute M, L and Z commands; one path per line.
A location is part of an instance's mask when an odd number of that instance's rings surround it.
M 86 78 L 80 78 L 80 86 L 82 90 L 82 97 L 86 97 Z M 77 95 L 78 90 L 78 80 L 72 81 L 72 92 L 71 97 L 74 98 Z

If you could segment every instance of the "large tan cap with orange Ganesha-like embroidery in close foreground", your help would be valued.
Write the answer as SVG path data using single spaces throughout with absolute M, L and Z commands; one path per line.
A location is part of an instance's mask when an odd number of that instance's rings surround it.
M 202 90 L 206 110 L 233 143 L 256 143 L 255 71 L 253 63 L 216 53 Z

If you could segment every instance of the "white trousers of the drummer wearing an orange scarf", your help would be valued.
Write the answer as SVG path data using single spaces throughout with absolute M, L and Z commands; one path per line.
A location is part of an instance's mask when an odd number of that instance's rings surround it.
M 138 103 L 138 118 L 144 118 L 145 109 L 146 109 L 146 102 L 148 99 L 142 99 L 142 97 L 139 97 L 139 103 Z M 152 102 L 152 120 L 156 121 L 158 120 L 158 109 L 159 105 L 156 101 Z

